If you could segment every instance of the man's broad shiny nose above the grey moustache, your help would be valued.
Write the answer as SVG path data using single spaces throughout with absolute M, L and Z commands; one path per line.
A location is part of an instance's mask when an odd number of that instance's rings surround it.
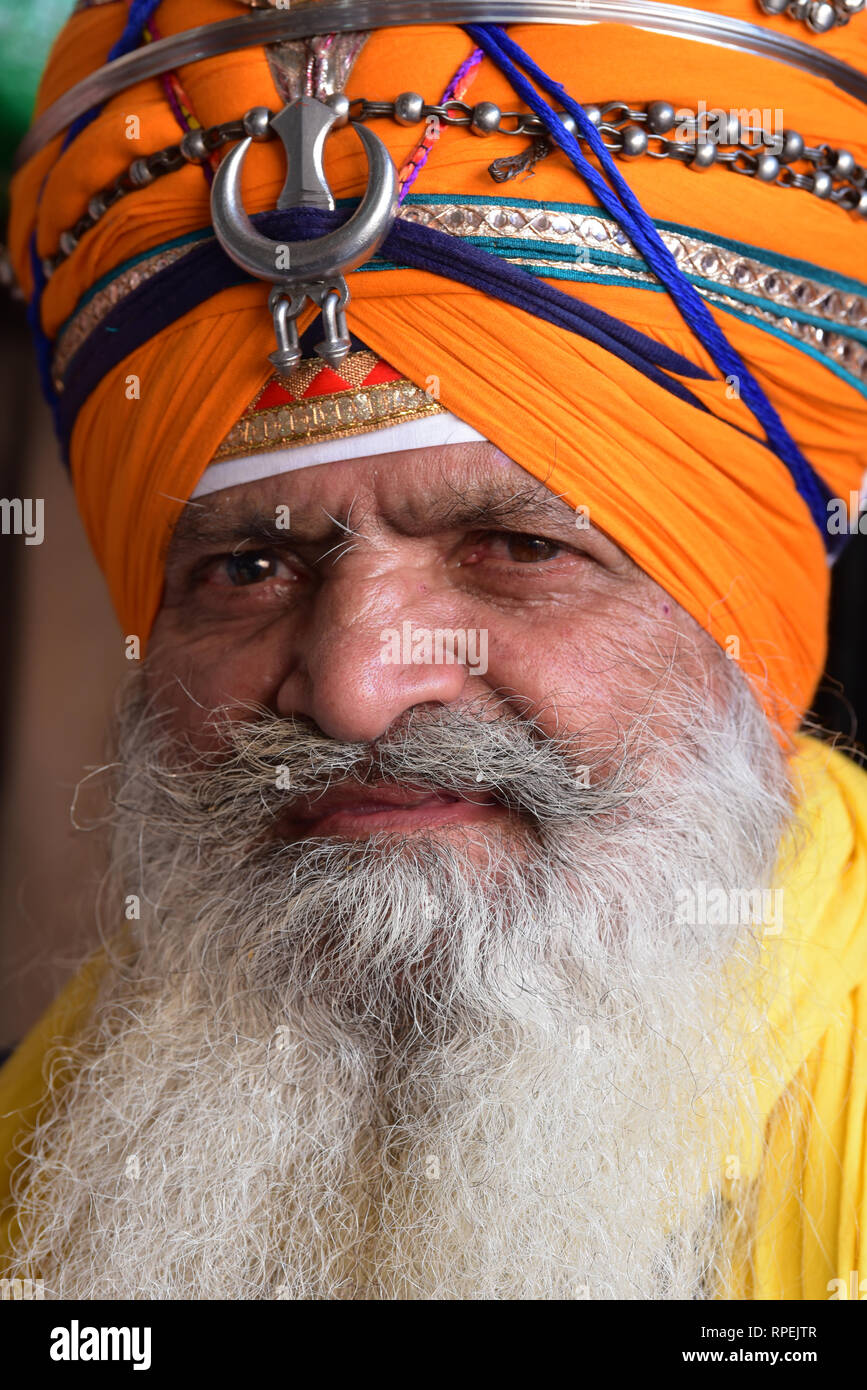
M 457 662 L 467 652 L 456 638 L 465 631 L 459 595 L 434 592 L 414 569 L 388 577 L 347 570 L 317 596 L 278 713 L 307 716 L 343 742 L 372 742 L 414 705 L 465 699 L 475 681 Z

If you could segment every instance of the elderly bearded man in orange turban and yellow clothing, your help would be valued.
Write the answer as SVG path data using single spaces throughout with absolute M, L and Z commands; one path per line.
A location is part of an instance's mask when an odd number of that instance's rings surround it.
M 4 1273 L 850 1297 L 867 781 L 799 727 L 864 470 L 861 40 L 350 8 L 79 6 L 21 154 L 144 659 L 104 948 L 0 1077 Z

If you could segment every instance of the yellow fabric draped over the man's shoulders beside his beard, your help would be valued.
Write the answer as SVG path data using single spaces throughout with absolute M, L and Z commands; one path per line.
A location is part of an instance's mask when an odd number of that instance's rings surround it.
M 867 771 L 814 738 L 795 742 L 806 833 L 781 849 L 784 926 L 767 938 L 782 965 L 768 1012 L 786 1084 L 759 1058 L 761 1141 L 724 1159 L 727 1195 L 739 1201 L 739 1183 L 756 1193 L 725 1295 L 867 1298 Z M 46 1098 L 46 1054 L 83 1019 L 101 960 L 81 967 L 0 1070 L 0 1275 L 14 1141 Z

